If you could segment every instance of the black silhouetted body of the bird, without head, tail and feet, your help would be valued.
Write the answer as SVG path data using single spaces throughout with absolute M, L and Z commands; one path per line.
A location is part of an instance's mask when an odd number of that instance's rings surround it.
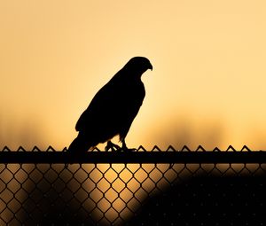
M 98 91 L 76 123 L 75 129 L 96 143 L 116 135 L 125 138 L 145 97 L 141 81 L 128 80 L 123 72 L 118 75 Z

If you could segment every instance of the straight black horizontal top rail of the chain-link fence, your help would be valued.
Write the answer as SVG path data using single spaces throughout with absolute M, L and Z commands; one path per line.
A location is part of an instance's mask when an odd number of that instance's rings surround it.
M 200 152 L 0 152 L 0 163 L 266 163 L 265 151 Z

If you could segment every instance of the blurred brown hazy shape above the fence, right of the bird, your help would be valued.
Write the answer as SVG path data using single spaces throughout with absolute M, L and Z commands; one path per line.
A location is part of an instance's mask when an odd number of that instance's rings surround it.
M 202 119 L 195 121 L 189 115 L 177 115 L 168 119 L 163 127 L 153 132 L 157 145 L 165 150 L 172 145 L 176 150 L 181 150 L 184 145 L 191 150 L 196 150 L 202 145 L 206 150 L 214 150 L 215 147 L 223 150 L 230 144 L 225 143 L 227 136 L 223 121 Z M 238 147 L 236 147 L 238 148 Z

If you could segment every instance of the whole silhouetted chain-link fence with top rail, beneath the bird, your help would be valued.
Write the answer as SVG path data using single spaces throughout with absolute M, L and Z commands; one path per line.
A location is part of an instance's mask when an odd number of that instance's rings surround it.
M 0 152 L 0 225 L 266 225 L 266 152 Z

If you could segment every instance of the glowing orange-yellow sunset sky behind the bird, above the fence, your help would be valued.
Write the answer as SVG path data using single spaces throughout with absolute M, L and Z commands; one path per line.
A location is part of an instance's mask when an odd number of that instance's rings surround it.
M 129 147 L 265 150 L 265 27 L 259 0 L 0 0 L 0 148 L 62 150 L 96 92 L 144 56 Z

